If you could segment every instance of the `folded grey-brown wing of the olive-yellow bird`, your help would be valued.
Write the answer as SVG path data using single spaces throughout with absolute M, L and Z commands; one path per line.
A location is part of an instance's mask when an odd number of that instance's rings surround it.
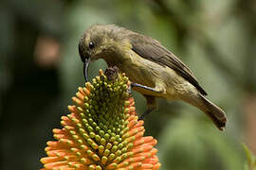
M 198 84 L 192 71 L 180 59 L 175 57 L 174 53 L 169 51 L 160 42 L 143 36 L 141 34 L 130 34 L 128 37 L 132 43 L 132 49 L 142 58 L 152 60 L 164 67 L 170 67 L 174 71 L 187 79 L 202 94 L 207 95 L 203 88 Z

